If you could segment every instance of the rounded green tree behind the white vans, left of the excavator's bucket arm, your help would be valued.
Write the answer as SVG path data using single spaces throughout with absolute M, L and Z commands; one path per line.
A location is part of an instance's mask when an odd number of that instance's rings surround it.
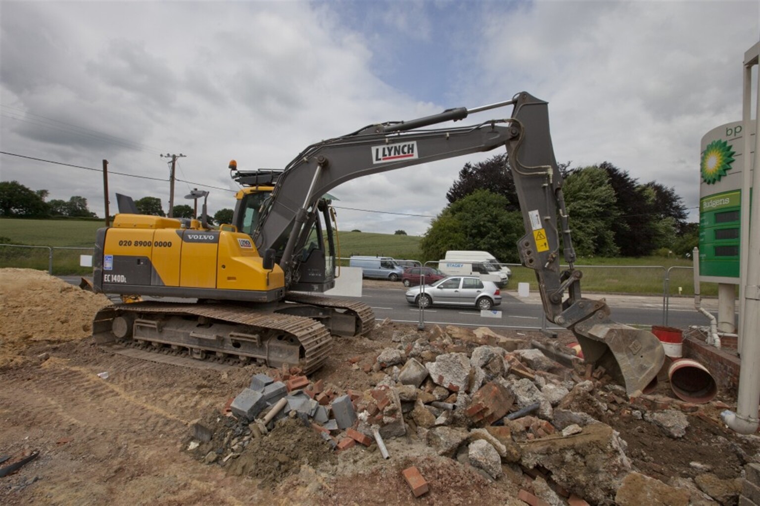
M 423 258 L 439 260 L 450 249 L 473 249 L 490 251 L 502 261 L 518 261 L 516 244 L 525 233 L 522 215 L 508 206 L 504 195 L 483 189 L 449 204 L 420 242 Z

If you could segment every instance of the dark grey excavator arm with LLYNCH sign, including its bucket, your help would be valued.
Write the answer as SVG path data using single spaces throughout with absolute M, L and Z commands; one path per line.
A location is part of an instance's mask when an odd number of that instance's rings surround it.
M 511 118 L 478 125 L 423 129 L 468 114 L 514 106 Z M 388 122 L 312 144 L 284 169 L 253 234 L 258 251 L 274 249 L 286 276 L 296 276 L 293 251 L 302 244 L 322 195 L 341 183 L 378 172 L 505 147 L 526 234 L 518 242 L 523 264 L 536 273 L 546 318 L 572 330 L 587 362 L 600 365 L 635 395 L 657 376 L 664 352 L 647 330 L 618 324 L 602 300 L 581 296 L 580 270 L 549 134 L 547 103 L 529 93 L 477 109 L 448 109 L 410 122 Z M 562 257 L 560 257 L 562 248 Z M 568 269 L 562 270 L 562 258 Z

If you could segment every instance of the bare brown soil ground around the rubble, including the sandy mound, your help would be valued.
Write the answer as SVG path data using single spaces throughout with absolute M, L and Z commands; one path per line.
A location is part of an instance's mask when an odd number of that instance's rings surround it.
M 359 445 L 335 454 L 289 419 L 226 466 L 205 464 L 198 455 L 206 448 L 188 451 L 192 421 L 229 425 L 223 406 L 263 368 L 200 370 L 102 349 L 90 337 L 90 322 L 107 302 L 39 271 L 0 270 L 0 457 L 40 451 L 21 471 L 0 478 L 3 504 L 523 504 L 517 495 L 524 477 L 514 467 L 505 466 L 505 476 L 492 482 L 435 455 L 416 435 L 386 441 L 390 460 Z M 334 337 L 334 355 L 312 381 L 363 391 L 377 376 L 361 365 L 394 346 L 394 335 L 424 332 L 379 323 L 367 337 Z M 571 342 L 572 334 L 559 340 Z M 719 401 L 735 407 L 732 399 Z M 620 432 L 641 473 L 663 482 L 694 477 L 705 469 L 697 462 L 734 478 L 758 444 L 725 429 L 719 406 L 689 413 L 679 439 L 622 416 L 630 406 L 594 415 Z M 430 484 L 418 499 L 401 476 L 411 465 Z

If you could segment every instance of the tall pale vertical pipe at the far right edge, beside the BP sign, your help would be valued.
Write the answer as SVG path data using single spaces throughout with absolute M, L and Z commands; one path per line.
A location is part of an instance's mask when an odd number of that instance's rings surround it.
M 750 159 L 751 144 L 749 142 L 752 133 L 751 109 L 752 109 L 752 67 L 758 65 L 760 60 L 760 42 L 752 46 L 744 53 L 744 96 L 743 96 L 743 128 L 744 134 L 744 172 L 749 173 L 752 168 Z M 758 80 L 760 81 L 760 80 Z M 736 400 L 736 413 L 729 410 L 720 413 L 724 423 L 739 434 L 754 434 L 758 430 L 758 406 L 760 406 L 760 205 L 758 205 L 758 191 L 760 191 L 760 131 L 758 127 L 758 113 L 760 113 L 760 85 L 757 88 L 755 99 L 755 157 L 752 184 L 755 187 L 755 205 L 752 206 L 752 217 L 749 222 L 742 221 L 742 228 L 749 229 L 749 247 L 747 255 L 739 258 L 742 261 L 744 290 L 742 295 L 742 321 L 739 324 L 739 343 L 742 356 L 741 370 L 739 371 L 739 394 Z M 742 190 L 742 198 L 749 194 L 749 176 L 745 177 L 745 187 Z M 749 200 L 749 199 L 747 199 Z M 749 204 L 749 203 L 748 203 Z M 750 226 L 751 225 L 751 226 Z

